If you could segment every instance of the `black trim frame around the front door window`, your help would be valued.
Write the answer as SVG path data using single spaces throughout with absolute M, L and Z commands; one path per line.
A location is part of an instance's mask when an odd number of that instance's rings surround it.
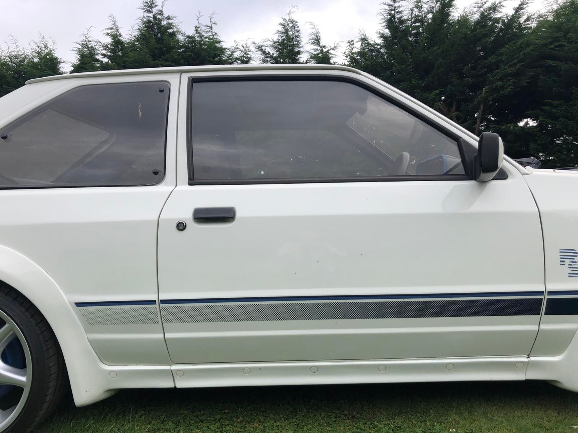
M 460 158 L 464 166 L 465 174 L 421 174 L 406 176 L 358 176 L 358 177 L 316 177 L 316 178 L 270 178 L 270 179 L 195 179 L 194 166 L 192 162 L 192 91 L 195 83 L 228 83 L 230 81 L 338 81 L 357 85 L 387 102 L 399 107 L 406 113 L 413 115 L 418 120 L 438 130 L 443 135 L 456 141 Z M 467 149 L 466 149 L 467 148 Z M 455 134 L 443 125 L 433 122 L 423 114 L 418 113 L 413 107 L 400 100 L 391 98 L 390 95 L 378 91 L 376 88 L 354 79 L 339 75 L 319 75 L 319 74 L 235 74 L 228 76 L 208 76 L 208 77 L 188 77 L 187 83 L 187 172 L 188 185 L 259 185 L 259 184 L 312 184 L 312 183 L 341 183 L 341 182 L 403 182 L 403 181 L 456 181 L 472 180 L 473 155 L 476 148 L 467 143 L 461 136 Z M 501 176 L 502 175 L 502 176 Z M 507 174 L 500 169 L 495 179 L 507 178 Z

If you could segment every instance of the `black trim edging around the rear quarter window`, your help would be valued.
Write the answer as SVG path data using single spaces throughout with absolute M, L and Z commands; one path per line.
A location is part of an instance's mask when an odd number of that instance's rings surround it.
M 154 184 L 118 184 L 118 185 L 91 185 L 91 184 L 39 184 L 39 185 L 0 185 L 0 191 L 2 191 L 3 189 L 60 189 L 60 188 L 122 188 L 122 187 L 126 187 L 126 186 L 130 186 L 131 188 L 139 188 L 139 187 L 143 187 L 143 186 L 157 186 L 162 184 L 162 182 L 164 182 L 165 177 L 166 177 L 166 137 L 168 135 L 168 130 L 169 130 L 169 111 L 171 109 L 171 83 L 168 80 L 138 80 L 138 81 L 114 81 L 113 83 L 92 83 L 92 84 L 81 84 L 81 85 L 77 85 L 75 87 L 69 88 L 68 90 L 65 90 L 64 92 L 59 93 L 58 95 L 55 95 L 54 98 L 50 98 L 49 100 L 39 104 L 38 106 L 33 107 L 32 109 L 30 109 L 29 111 L 27 111 L 26 113 L 24 113 L 23 115 L 21 115 L 20 117 L 18 117 L 17 119 L 13 120 L 12 122 L 9 122 L 8 124 L 2 126 L 2 128 L 6 128 L 6 126 L 8 125 L 12 125 L 12 124 L 18 124 L 21 125 L 24 122 L 28 121 L 29 119 L 31 119 L 32 117 L 32 113 L 34 113 L 35 110 L 38 110 L 40 108 L 42 108 L 43 106 L 53 102 L 53 100 L 60 98 L 60 96 L 64 95 L 66 92 L 70 92 L 76 89 L 79 89 L 81 87 L 87 87 L 87 86 L 95 86 L 95 85 L 108 85 L 108 84 L 134 84 L 134 83 L 162 83 L 162 84 L 166 84 L 166 87 L 168 88 L 168 95 L 166 98 L 166 118 L 165 118 L 165 137 L 164 137 L 164 150 L 163 150 L 163 155 L 162 155 L 162 176 L 160 178 L 158 178 L 158 182 L 155 182 Z M 98 146 L 98 145 L 97 145 Z M 59 175 L 60 176 L 60 175 Z

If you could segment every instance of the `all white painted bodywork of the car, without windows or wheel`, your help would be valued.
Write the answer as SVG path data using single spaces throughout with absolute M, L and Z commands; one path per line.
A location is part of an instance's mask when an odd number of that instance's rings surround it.
M 476 146 L 461 126 L 343 66 L 73 74 L 32 80 L 3 97 L 0 128 L 81 85 L 171 85 L 160 184 L 0 189 L 0 280 L 50 323 L 76 404 L 133 387 L 546 379 L 578 391 L 578 316 L 544 314 L 547 302 L 533 315 L 165 321 L 163 330 L 166 300 L 495 292 L 541 299 L 544 290 L 547 300 L 578 296 L 554 293 L 572 292 L 578 282 L 559 254 L 578 247 L 575 173 L 528 170 L 505 157 L 507 179 L 483 184 L 188 185 L 188 77 L 263 73 L 349 77 Z M 237 219 L 218 227 L 192 221 L 194 208 L 211 206 L 234 206 Z M 177 232 L 181 219 L 188 228 Z M 416 258 L 424 239 L 427 248 Z M 137 309 L 155 311 L 157 322 L 89 323 L 87 309 L 124 308 L 124 301 L 147 303 Z

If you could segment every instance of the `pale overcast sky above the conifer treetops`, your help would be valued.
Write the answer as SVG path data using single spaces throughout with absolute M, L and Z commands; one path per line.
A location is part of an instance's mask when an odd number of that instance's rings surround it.
M 195 16 L 200 11 L 207 15 L 216 12 L 218 33 L 227 45 L 234 40 L 261 40 L 275 32 L 280 17 L 287 13 L 291 3 L 297 3 L 295 18 L 301 23 L 303 36 L 309 32 L 305 24 L 312 21 L 321 30 L 324 43 L 345 41 L 357 36 L 359 29 L 375 35 L 379 27 L 377 11 L 380 0 L 168 0 L 165 12 L 176 15 L 181 28 L 191 32 Z M 458 8 L 472 3 L 456 0 Z M 93 26 L 91 34 L 100 39 L 108 26 L 109 14 L 127 32 L 136 18 L 141 0 L 0 0 L 0 40 L 15 36 L 27 45 L 38 33 L 56 41 L 57 53 L 66 62 L 74 59 L 72 48 L 79 35 Z M 509 12 L 516 1 L 506 2 Z M 534 0 L 531 10 L 542 8 L 541 0 Z M 304 38 L 306 39 L 306 38 Z M 3 43 L 2 43 L 3 44 Z M 342 43 L 344 48 L 344 43 Z M 65 68 L 69 69 L 69 68 Z

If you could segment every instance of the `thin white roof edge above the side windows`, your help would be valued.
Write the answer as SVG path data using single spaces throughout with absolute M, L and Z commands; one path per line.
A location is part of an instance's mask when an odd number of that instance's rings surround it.
M 219 72 L 219 71 L 251 71 L 251 70 L 342 70 L 361 74 L 360 70 L 342 65 L 317 65 L 317 64 L 276 64 L 276 65 L 213 65 L 213 66 L 174 66 L 172 68 L 146 68 L 146 69 L 118 69 L 103 70 L 96 72 L 81 72 L 76 74 L 62 74 L 50 77 L 35 78 L 26 81 L 26 84 L 39 83 L 40 81 L 70 80 L 85 77 L 110 77 L 117 75 L 141 75 L 158 73 L 187 73 L 187 72 Z

